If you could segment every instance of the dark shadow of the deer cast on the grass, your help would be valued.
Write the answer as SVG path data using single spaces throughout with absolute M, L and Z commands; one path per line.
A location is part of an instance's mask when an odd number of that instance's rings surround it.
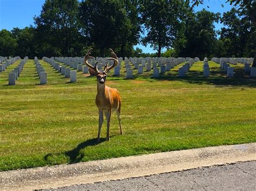
M 98 145 L 98 144 L 104 142 L 105 140 L 106 140 L 106 138 L 100 138 L 100 142 L 98 142 L 96 138 L 89 139 L 89 140 L 86 140 L 85 142 L 82 142 L 82 143 L 78 144 L 72 150 L 65 151 L 65 152 L 62 152 L 62 153 L 57 153 L 57 154 L 53 154 L 53 153 L 46 154 L 44 156 L 44 160 L 45 161 L 50 161 L 51 157 L 55 157 L 56 155 L 58 156 L 58 155 L 63 155 L 64 154 L 65 157 L 68 158 L 68 160 L 69 160 L 68 163 L 69 164 L 77 163 L 77 162 L 80 162 L 84 158 L 84 153 L 80 152 L 80 151 L 84 150 L 84 148 L 86 148 L 88 146 Z

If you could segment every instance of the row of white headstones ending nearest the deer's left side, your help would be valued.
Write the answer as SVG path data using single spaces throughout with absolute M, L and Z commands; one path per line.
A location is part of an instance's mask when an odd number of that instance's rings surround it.
M 55 57 L 57 58 L 57 57 Z M 60 66 L 59 63 L 55 62 L 52 58 L 43 57 L 43 60 L 48 62 L 53 68 L 55 68 L 59 73 L 64 75 L 65 77 L 70 77 L 70 82 L 76 82 L 77 81 L 77 71 L 71 70 L 68 67 Z

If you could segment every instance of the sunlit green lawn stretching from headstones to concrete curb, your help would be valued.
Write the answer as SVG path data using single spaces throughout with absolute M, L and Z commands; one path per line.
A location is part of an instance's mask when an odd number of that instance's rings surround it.
M 107 77 L 107 84 L 122 96 L 122 128 L 112 116 L 111 140 L 96 144 L 98 110 L 95 77 L 78 72 L 77 82 L 40 61 L 48 84 L 39 85 L 33 60 L 28 60 L 16 86 L 0 73 L 0 171 L 79 161 L 123 157 L 256 140 L 256 80 L 234 66 L 228 79 L 214 62 L 203 77 L 203 62 L 196 62 L 187 77 L 178 67 L 152 79 L 152 72 L 125 80 Z M 134 70 L 136 73 L 137 70 Z

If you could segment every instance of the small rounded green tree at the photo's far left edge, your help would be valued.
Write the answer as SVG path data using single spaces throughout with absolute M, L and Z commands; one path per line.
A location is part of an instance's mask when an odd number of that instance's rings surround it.
M 15 56 L 17 41 L 11 32 L 3 29 L 0 31 L 0 55 Z

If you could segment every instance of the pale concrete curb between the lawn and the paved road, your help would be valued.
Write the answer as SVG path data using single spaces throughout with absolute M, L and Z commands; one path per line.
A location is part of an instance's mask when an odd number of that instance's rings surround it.
M 0 190 L 57 188 L 250 160 L 256 160 L 256 143 L 196 148 L 0 172 Z

